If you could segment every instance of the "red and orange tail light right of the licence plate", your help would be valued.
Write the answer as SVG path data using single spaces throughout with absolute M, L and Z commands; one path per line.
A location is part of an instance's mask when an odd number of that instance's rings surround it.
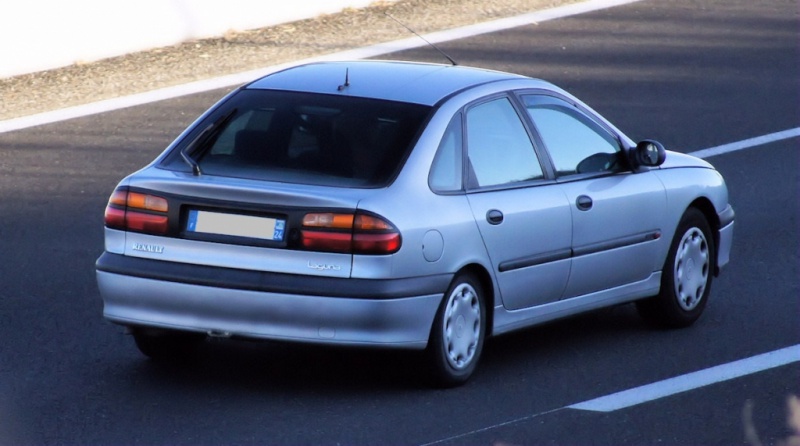
M 300 243 L 308 250 L 348 254 L 392 254 L 401 246 L 394 225 L 360 212 L 306 214 Z

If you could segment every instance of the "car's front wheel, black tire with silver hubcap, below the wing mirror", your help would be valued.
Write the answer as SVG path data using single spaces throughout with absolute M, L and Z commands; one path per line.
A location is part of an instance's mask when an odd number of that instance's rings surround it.
M 708 220 L 699 209 L 687 209 L 664 263 L 659 294 L 636 303 L 642 318 L 665 328 L 692 325 L 708 303 L 715 258 Z

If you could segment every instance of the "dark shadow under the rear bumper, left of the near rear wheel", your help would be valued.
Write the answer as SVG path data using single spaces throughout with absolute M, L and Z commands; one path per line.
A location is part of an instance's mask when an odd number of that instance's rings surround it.
M 409 351 L 211 338 L 187 358 L 137 362 L 137 373 L 152 382 L 177 378 L 203 389 L 319 394 L 429 386 L 422 354 Z

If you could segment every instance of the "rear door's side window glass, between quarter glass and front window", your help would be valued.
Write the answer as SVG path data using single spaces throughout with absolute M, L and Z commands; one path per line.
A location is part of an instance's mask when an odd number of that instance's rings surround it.
M 528 132 L 508 98 L 467 111 L 469 186 L 486 187 L 544 177 Z

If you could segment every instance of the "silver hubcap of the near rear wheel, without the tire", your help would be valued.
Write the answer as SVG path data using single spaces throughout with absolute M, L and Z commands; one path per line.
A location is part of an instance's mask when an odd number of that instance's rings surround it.
M 444 313 L 444 347 L 453 368 L 467 367 L 478 348 L 481 330 L 481 307 L 478 293 L 471 285 L 457 286 L 447 300 Z

